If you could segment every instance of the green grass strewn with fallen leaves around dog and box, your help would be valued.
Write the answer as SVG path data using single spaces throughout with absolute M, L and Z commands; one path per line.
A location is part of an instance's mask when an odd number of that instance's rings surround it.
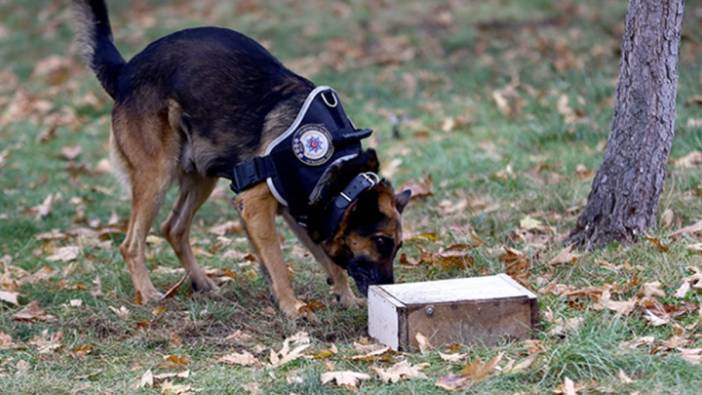
M 376 130 L 371 144 L 378 148 L 386 170 L 393 160 L 401 160 L 391 171 L 396 185 L 431 176 L 433 196 L 412 202 L 404 221 L 408 233 L 434 232 L 438 240 L 410 238 L 404 252 L 410 257 L 422 250 L 436 252 L 468 242 L 472 234 L 483 244 L 471 250 L 471 267 L 447 271 L 398 265 L 400 281 L 502 272 L 505 265 L 498 257 L 508 246 L 529 257 L 529 285 L 537 291 L 550 283 L 576 288 L 610 284 L 619 290 L 616 298 L 624 300 L 634 297 L 641 284 L 660 281 L 667 294 L 664 303 L 700 305 L 699 293 L 690 292 L 684 300 L 672 296 L 689 274 L 686 268 L 700 267 L 699 255 L 686 248 L 696 241 L 669 238 L 672 229 L 698 220 L 702 213 L 699 168 L 672 163 L 702 146 L 700 127 L 689 122 L 699 118 L 700 111 L 699 104 L 689 99 L 702 94 L 702 36 L 694 29 L 700 23 L 695 14 L 698 5 L 687 7 L 676 138 L 659 207 L 660 213 L 672 210 L 673 221 L 652 231 L 670 250 L 661 252 L 645 241 L 614 244 L 554 268 L 548 261 L 572 229 L 587 197 L 591 172 L 602 160 L 612 116 L 624 2 L 179 1 L 166 6 L 147 0 L 136 8 L 127 2 L 112 3 L 115 37 L 125 56 L 177 29 L 202 24 L 235 28 L 263 42 L 298 72 L 341 92 L 355 123 Z M 95 78 L 78 63 L 64 8 L 59 2 L 0 1 L 0 157 L 5 157 L 0 160 L 0 257 L 4 256 L 0 285 L 10 286 L 5 283 L 10 267 L 34 273 L 48 266 L 57 272 L 18 289 L 22 304 L 37 301 L 56 317 L 55 322 L 18 322 L 12 316 L 21 307 L 0 304 L 0 332 L 21 345 L 0 350 L 0 392 L 156 393 L 158 388 L 135 389 L 147 369 L 155 373 L 189 369 L 190 377 L 182 382 L 203 393 L 243 393 L 249 383 L 257 383 L 263 393 L 343 393 L 338 387 L 322 385 L 320 374 L 328 370 L 372 373 L 374 364 L 387 367 L 387 362 L 350 359 L 357 353 L 353 342 L 366 334 L 365 311 L 333 305 L 318 266 L 300 253 L 287 231 L 283 232 L 284 251 L 295 271 L 296 292 L 324 306 L 317 313 L 321 324 L 291 324 L 272 309 L 255 263 L 242 258 L 249 251 L 243 234 L 217 240 L 207 232 L 224 219 L 235 219 L 224 182 L 198 213 L 193 242 L 203 251 L 199 254 L 203 266 L 230 269 L 236 278 L 216 296 L 190 295 L 189 288 L 183 287 L 164 302 L 157 317 L 153 306 L 133 303 L 129 275 L 117 250 L 123 234 L 109 233 L 101 240 L 106 245 L 90 238 L 37 239 L 53 229 L 64 233 L 75 228 L 101 229 L 113 213 L 123 220 L 129 212 L 118 183 L 95 171 L 106 156 L 111 104 Z M 35 71 L 50 55 L 67 62 L 67 72 L 58 73 L 54 81 L 51 75 Z M 513 86 L 513 93 L 508 86 Z M 498 108 L 496 91 L 506 97 L 511 113 Z M 575 124 L 566 122 L 559 111 L 562 95 L 580 114 Z M 22 103 L 28 104 L 22 107 Z M 393 117 L 402 119 L 400 139 L 392 137 Z M 444 131 L 446 119 L 458 120 L 458 126 Z M 69 162 L 61 157 L 61 150 L 73 145 L 82 152 Z M 51 211 L 35 219 L 28 209 L 49 194 L 57 194 Z M 447 213 L 447 205 L 462 199 L 465 209 Z M 173 200 L 172 194 L 168 200 Z M 165 214 L 164 209 L 161 218 Z M 527 215 L 548 230 L 520 229 Z M 46 259 L 64 245 L 80 245 L 80 256 L 71 263 Z M 241 254 L 226 259 L 222 257 L 226 251 Z M 152 244 L 147 260 L 151 269 L 177 267 L 166 243 Z M 102 284 L 101 296 L 91 293 L 96 278 Z M 162 290 L 178 278 L 167 270 L 152 274 Z M 82 300 L 82 306 L 70 307 L 73 299 Z M 111 309 L 120 306 L 129 310 L 126 318 Z M 700 347 L 696 312 L 652 327 L 640 311 L 615 316 L 596 310 L 590 298 L 544 293 L 540 308 L 556 318 L 582 317 L 583 323 L 555 336 L 550 334 L 555 324 L 546 317 L 536 335 L 543 352 L 530 368 L 492 375 L 467 392 L 548 393 L 566 377 L 587 393 L 683 394 L 697 393 L 702 385 L 702 367 L 685 362 L 674 350 L 619 347 L 641 336 L 654 336 L 660 343 L 680 334 L 681 328 L 687 328 L 682 331 L 688 340 L 685 346 Z M 144 322 L 150 322 L 147 329 L 141 329 Z M 44 330 L 63 333 L 60 349 L 40 354 L 29 345 Z M 313 352 L 333 343 L 339 353 L 327 360 L 296 360 L 277 369 L 216 363 L 221 355 L 241 349 L 226 339 L 236 330 L 252 336 L 246 346 L 250 350 L 256 344 L 277 350 L 286 336 L 305 330 L 312 337 Z M 87 355 L 73 351 L 84 345 L 92 347 Z M 519 361 L 527 345 L 515 342 L 460 350 L 468 360 L 487 360 L 504 352 L 506 358 Z M 166 355 L 186 356 L 189 362 L 167 366 Z M 259 358 L 266 360 L 267 354 Z M 360 392 L 441 393 L 434 382 L 461 368 L 433 352 L 407 358 L 412 363 L 428 362 L 428 378 L 393 385 L 374 378 L 364 382 Z M 634 382 L 622 383 L 620 370 Z M 303 378 L 302 384 L 288 383 L 286 376 L 291 372 Z

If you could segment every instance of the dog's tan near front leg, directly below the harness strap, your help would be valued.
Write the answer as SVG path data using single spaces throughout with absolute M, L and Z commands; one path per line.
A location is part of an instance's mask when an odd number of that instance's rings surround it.
M 283 260 L 280 238 L 275 230 L 278 201 L 271 194 L 268 185 L 260 183 L 241 192 L 234 199 L 234 205 L 239 211 L 249 241 L 263 264 L 273 297 L 280 310 L 290 318 L 304 316 L 314 320 L 314 314 L 305 310 L 305 303 L 295 297 L 290 284 L 288 266 Z

